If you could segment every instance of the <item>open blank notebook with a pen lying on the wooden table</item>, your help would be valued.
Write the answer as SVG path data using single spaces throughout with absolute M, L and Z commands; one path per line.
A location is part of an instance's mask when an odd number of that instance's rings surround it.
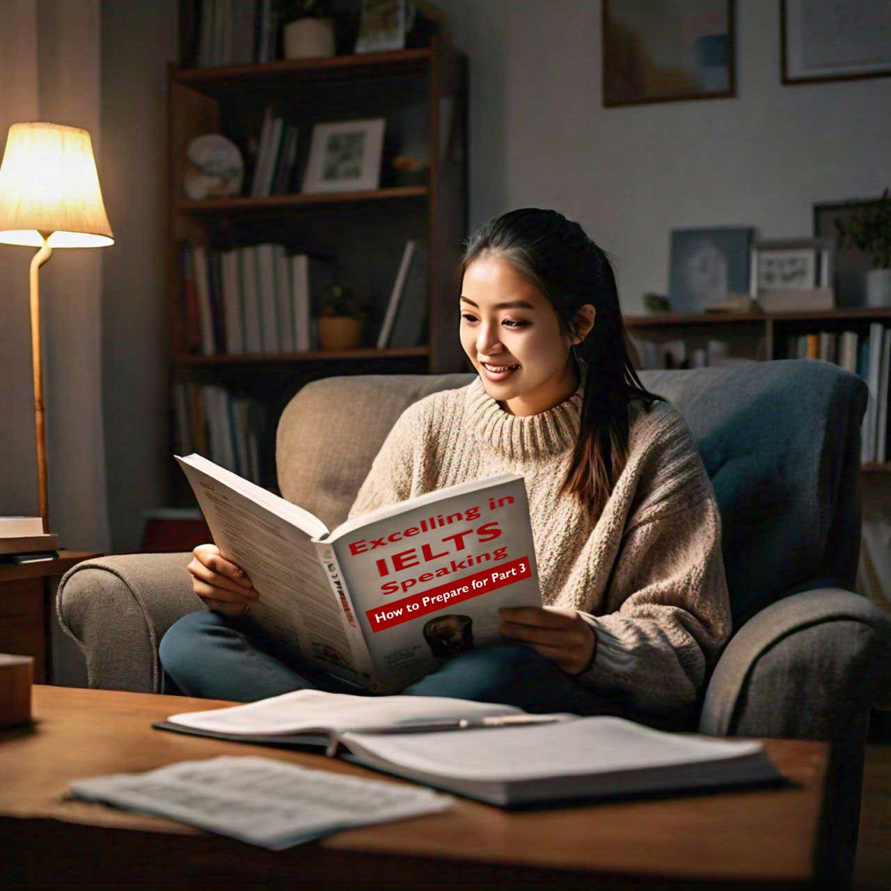
M 348 760 L 503 806 L 783 779 L 757 740 L 666 733 L 610 716 L 527 715 L 464 699 L 301 690 L 155 726 L 228 740 L 333 743 L 330 754 L 342 746 Z

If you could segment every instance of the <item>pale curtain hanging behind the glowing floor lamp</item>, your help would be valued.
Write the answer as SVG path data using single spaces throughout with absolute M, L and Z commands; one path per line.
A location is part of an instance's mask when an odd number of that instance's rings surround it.
M 45 120 L 91 135 L 103 180 L 99 0 L 12 0 L 0 27 L 0 139 Z M 112 221 L 112 228 L 114 222 Z M 105 249 L 60 249 L 40 271 L 50 528 L 62 546 L 105 550 L 100 306 Z M 0 513 L 37 513 L 29 262 L 0 245 Z

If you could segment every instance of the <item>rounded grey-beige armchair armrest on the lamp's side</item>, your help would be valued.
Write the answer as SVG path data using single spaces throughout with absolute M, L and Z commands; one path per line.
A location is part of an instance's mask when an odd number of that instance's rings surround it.
M 176 619 L 205 609 L 185 567 L 191 553 L 85 560 L 62 576 L 56 611 L 86 656 L 87 682 L 157 693 L 158 644 Z

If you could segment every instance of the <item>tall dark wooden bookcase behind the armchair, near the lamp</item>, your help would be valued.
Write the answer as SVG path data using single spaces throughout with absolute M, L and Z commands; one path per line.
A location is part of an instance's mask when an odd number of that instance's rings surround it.
M 261 482 L 274 488 L 274 430 L 284 405 L 311 380 L 361 373 L 462 371 L 454 337 L 452 277 L 467 233 L 467 60 L 438 37 L 429 46 L 325 59 L 272 61 L 213 68 L 168 67 L 168 392 L 171 444 L 176 429 L 175 383 L 212 384 L 257 400 L 265 408 Z M 447 101 L 447 102 L 446 102 Z M 451 115 L 443 109 L 451 104 Z M 406 183 L 388 166 L 399 148 L 400 114 L 425 106 L 429 168 Z M 263 115 L 298 127 L 298 165 L 305 165 L 313 125 L 384 118 L 380 187 L 362 192 L 292 191 L 249 197 L 248 146 L 260 135 Z M 450 126 L 449 126 L 449 122 Z M 449 132 L 440 133 L 441 126 Z M 185 151 L 193 138 L 221 133 L 246 161 L 242 194 L 190 200 L 184 193 Z M 444 150 L 440 152 L 440 146 Z M 302 175 L 298 167 L 295 184 Z M 427 326 L 413 347 L 378 349 L 377 331 L 396 279 L 405 241 L 428 250 Z M 297 253 L 330 257 L 338 281 L 371 298 L 372 324 L 356 349 L 267 354 L 200 355 L 190 350 L 184 315 L 180 250 L 208 250 L 275 242 Z M 170 503 L 191 503 L 171 474 Z

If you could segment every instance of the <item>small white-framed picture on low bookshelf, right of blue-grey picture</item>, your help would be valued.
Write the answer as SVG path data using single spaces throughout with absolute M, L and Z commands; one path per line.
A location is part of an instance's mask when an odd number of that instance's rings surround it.
M 751 249 L 751 297 L 765 313 L 835 308 L 834 238 L 762 239 Z

